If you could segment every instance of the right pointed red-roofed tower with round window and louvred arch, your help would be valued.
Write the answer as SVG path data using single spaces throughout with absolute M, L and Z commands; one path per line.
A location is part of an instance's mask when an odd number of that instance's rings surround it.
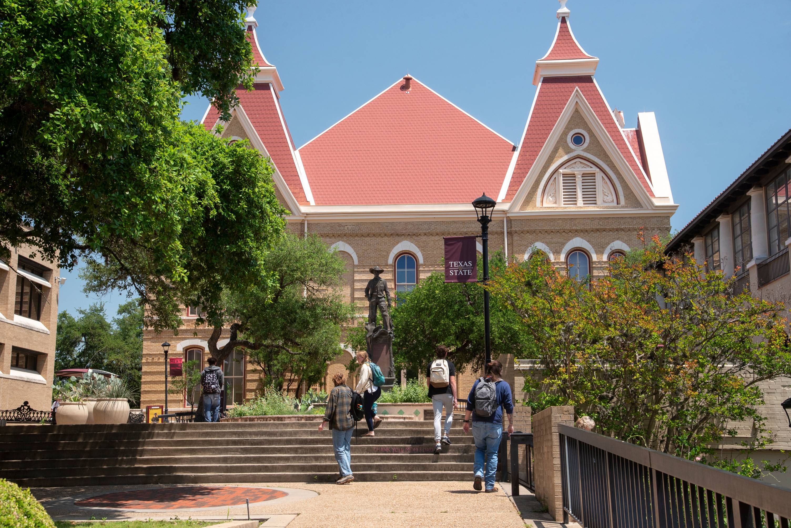
M 511 211 L 675 210 L 653 112 L 639 114 L 637 128 L 624 127 L 623 113 L 607 104 L 594 79 L 599 58 L 574 37 L 570 9 L 559 2 L 554 40 L 536 61 L 536 96 L 498 202 L 510 202 Z

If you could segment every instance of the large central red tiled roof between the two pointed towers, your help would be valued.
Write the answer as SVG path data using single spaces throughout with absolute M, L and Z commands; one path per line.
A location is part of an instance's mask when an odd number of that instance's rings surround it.
M 299 149 L 316 206 L 497 196 L 513 145 L 417 80 L 374 97 Z

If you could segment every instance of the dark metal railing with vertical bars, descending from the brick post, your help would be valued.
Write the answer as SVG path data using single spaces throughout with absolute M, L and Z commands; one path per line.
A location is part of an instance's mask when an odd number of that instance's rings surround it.
M 791 489 L 559 425 L 564 516 L 585 528 L 789 528 Z

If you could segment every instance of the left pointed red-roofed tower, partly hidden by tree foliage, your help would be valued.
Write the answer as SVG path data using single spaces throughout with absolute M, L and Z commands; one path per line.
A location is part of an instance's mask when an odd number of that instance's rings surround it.
M 229 122 L 221 123 L 217 108 L 210 105 L 201 123 L 208 130 L 214 130 L 221 124 L 223 138 L 248 139 L 255 149 L 269 157 L 274 167 L 278 199 L 297 213 L 300 206 L 314 204 L 313 195 L 280 106 L 283 84 L 277 67 L 267 61 L 261 51 L 254 13 L 255 6 L 248 7 L 248 17 L 244 20 L 248 42 L 252 46 L 252 67 L 256 70 L 252 92 L 237 90 L 239 104 L 233 108 Z

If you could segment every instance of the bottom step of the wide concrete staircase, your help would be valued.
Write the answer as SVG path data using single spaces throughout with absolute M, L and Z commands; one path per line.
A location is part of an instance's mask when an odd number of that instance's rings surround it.
M 354 457 L 354 455 L 352 455 Z M 352 463 L 354 471 L 354 460 Z M 361 470 L 363 468 L 360 468 Z M 25 488 L 49 488 L 59 486 L 95 485 L 152 485 L 152 484 L 218 484 L 218 483 L 272 483 L 272 482 L 334 482 L 338 477 L 338 466 L 332 473 L 166 473 L 161 475 L 123 475 L 70 477 L 36 477 L 15 479 Z M 386 481 L 470 481 L 472 466 L 468 471 L 414 470 L 391 473 L 389 471 L 357 471 L 354 480 L 360 482 Z

